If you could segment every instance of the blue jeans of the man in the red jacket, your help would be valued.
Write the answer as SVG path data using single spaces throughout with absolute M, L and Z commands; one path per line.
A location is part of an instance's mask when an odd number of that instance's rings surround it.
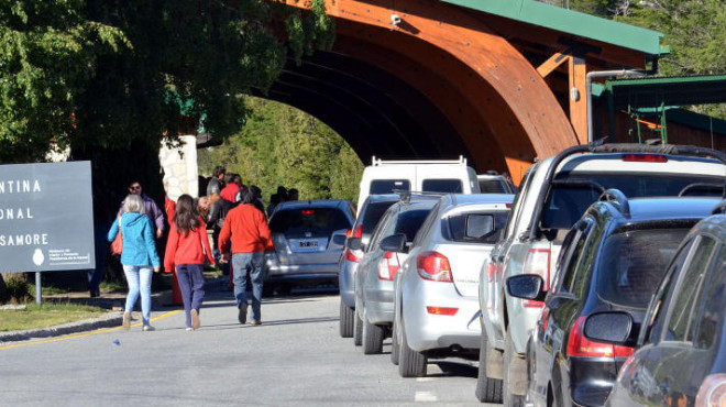
M 234 253 L 232 254 L 232 267 L 234 270 L 234 298 L 238 308 L 248 302 L 248 273 L 252 282 L 252 312 L 251 321 L 260 321 L 260 304 L 262 302 L 262 265 L 265 262 L 264 252 Z

